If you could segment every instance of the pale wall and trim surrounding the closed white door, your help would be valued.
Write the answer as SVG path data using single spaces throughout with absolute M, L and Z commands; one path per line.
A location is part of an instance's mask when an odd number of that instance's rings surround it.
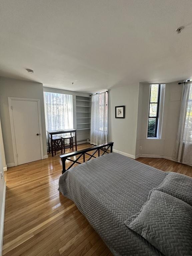
M 8 97 L 40 99 L 43 151 L 44 155 L 47 155 L 43 84 L 0 77 L 0 116 L 7 165 L 11 166 L 14 163 Z

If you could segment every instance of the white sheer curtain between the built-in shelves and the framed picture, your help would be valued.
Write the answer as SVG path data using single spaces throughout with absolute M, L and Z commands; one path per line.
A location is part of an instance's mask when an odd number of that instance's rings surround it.
M 91 96 L 91 144 L 107 143 L 108 92 Z

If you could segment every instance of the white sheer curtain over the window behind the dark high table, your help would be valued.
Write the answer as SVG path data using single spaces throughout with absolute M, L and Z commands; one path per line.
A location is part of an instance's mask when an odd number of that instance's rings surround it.
M 73 128 L 73 96 L 44 92 L 46 130 Z

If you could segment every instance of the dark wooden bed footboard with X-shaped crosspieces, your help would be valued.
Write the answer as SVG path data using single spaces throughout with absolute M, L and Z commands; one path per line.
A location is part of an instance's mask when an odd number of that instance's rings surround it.
M 60 158 L 61 158 L 62 165 L 63 165 L 62 174 L 64 172 L 66 172 L 67 170 L 69 170 L 75 163 L 81 164 L 80 162 L 78 162 L 78 160 L 81 156 L 83 156 L 83 163 L 84 163 L 85 162 L 85 154 L 90 156 L 87 160 L 87 161 L 89 161 L 92 157 L 96 158 L 96 156 L 94 156 L 96 152 L 98 152 L 98 156 L 100 156 L 100 150 L 102 151 L 101 156 L 104 155 L 105 153 L 108 154 L 109 152 L 107 152 L 107 150 L 109 148 L 110 148 L 110 153 L 112 153 L 113 152 L 113 143 L 114 142 L 109 142 L 109 143 L 106 143 L 106 144 L 101 144 L 101 145 L 94 146 L 94 147 L 91 147 L 91 148 L 86 148 L 86 149 L 74 151 L 72 153 L 68 153 L 68 154 L 65 154 L 65 155 L 61 155 Z M 104 149 L 104 147 L 106 147 L 106 148 Z M 93 154 L 87 153 L 87 152 L 92 151 L 92 150 L 95 150 L 93 152 Z M 73 156 L 77 156 L 77 155 L 79 155 L 79 156 L 75 160 L 72 160 L 72 159 L 69 158 L 69 157 L 73 157 Z M 69 160 L 69 161 L 72 162 L 72 164 L 67 169 L 66 169 L 66 166 L 65 166 L 66 160 Z

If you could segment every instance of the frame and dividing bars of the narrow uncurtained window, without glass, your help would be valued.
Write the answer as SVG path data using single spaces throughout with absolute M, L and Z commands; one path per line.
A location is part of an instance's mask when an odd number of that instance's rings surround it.
M 149 105 L 148 105 L 148 122 L 147 122 L 147 139 L 158 139 L 157 133 L 158 133 L 158 125 L 159 125 L 159 109 L 160 109 L 160 102 L 161 102 L 161 84 L 158 84 L 158 95 L 157 95 L 157 102 L 151 102 L 151 85 L 150 84 L 150 89 L 149 89 Z M 157 113 L 156 116 L 150 116 L 150 104 L 157 104 Z M 154 137 L 149 137 L 148 136 L 148 130 L 149 130 L 149 119 L 150 118 L 155 118 L 155 134 Z

